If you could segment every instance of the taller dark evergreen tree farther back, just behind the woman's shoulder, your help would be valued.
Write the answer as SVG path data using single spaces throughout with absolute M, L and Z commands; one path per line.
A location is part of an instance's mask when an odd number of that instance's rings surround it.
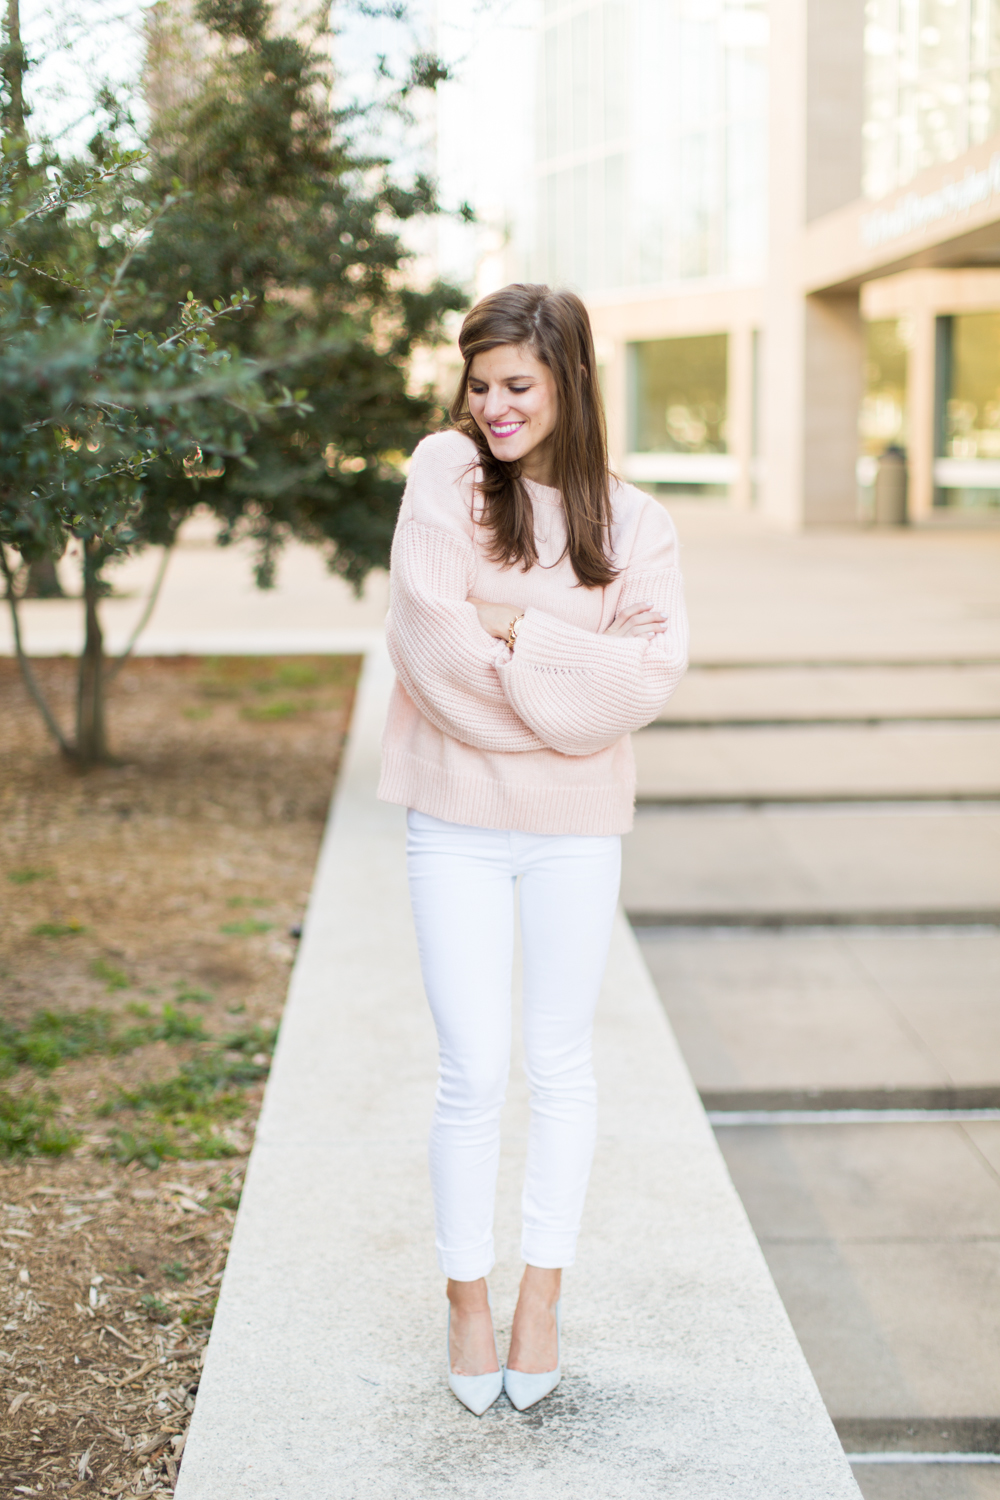
M 196 16 L 213 42 L 201 81 L 150 141 L 144 195 L 183 196 L 136 256 L 142 315 L 168 322 L 187 292 L 250 296 L 231 345 L 273 366 L 264 380 L 274 387 L 294 358 L 309 411 L 262 423 L 247 442 L 253 466 L 202 471 L 196 498 L 223 520 L 223 538 L 258 540 L 262 585 L 289 536 L 322 544 L 360 585 L 388 561 L 400 465 L 441 418 L 432 393 L 409 388 L 411 356 L 463 306 L 453 286 L 405 279 L 400 231 L 436 212 L 433 189 L 424 178 L 402 188 L 387 162 L 355 152 L 327 58 L 298 34 L 274 34 L 262 0 L 199 0 Z M 418 58 L 408 88 L 441 76 Z M 174 506 L 177 482 L 159 476 L 153 496 Z

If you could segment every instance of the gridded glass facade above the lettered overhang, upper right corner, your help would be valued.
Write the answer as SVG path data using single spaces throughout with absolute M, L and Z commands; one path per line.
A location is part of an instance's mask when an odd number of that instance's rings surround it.
M 864 192 L 886 194 L 1000 130 L 1000 0 L 868 0 Z

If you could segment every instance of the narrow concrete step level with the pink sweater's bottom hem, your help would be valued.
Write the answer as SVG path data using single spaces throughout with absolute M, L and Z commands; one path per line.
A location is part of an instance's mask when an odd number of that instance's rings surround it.
M 643 729 L 640 801 L 1000 796 L 1000 723 Z

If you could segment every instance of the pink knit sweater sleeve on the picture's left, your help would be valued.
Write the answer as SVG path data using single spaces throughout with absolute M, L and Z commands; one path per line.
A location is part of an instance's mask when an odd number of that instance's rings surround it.
M 496 666 L 507 648 L 468 603 L 475 552 L 456 482 L 462 465 L 448 441 L 456 435 L 442 436 L 421 442 L 411 464 L 393 538 L 388 654 L 424 718 L 453 740 L 477 750 L 540 750 L 501 687 Z

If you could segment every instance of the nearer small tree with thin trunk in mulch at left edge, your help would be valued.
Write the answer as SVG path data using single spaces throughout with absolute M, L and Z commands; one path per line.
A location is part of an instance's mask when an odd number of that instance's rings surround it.
M 6 580 L 18 662 L 28 692 L 63 752 L 88 765 L 108 758 L 105 660 L 99 618 L 102 570 L 148 540 L 150 476 L 192 490 L 186 472 L 205 456 L 247 462 L 246 438 L 288 393 L 261 388 L 252 362 L 219 348 L 216 332 L 244 298 L 214 308 L 187 300 L 175 326 L 150 333 L 115 316 L 129 238 L 156 231 L 136 213 L 117 264 L 85 256 L 69 210 L 85 210 L 135 162 L 67 180 L 0 180 L 0 573 Z M 69 254 L 66 246 L 69 244 Z M 169 540 L 190 507 L 157 507 Z M 76 732 L 66 734 L 45 702 L 22 650 L 7 546 L 28 564 L 79 544 L 85 642 L 79 662 Z

